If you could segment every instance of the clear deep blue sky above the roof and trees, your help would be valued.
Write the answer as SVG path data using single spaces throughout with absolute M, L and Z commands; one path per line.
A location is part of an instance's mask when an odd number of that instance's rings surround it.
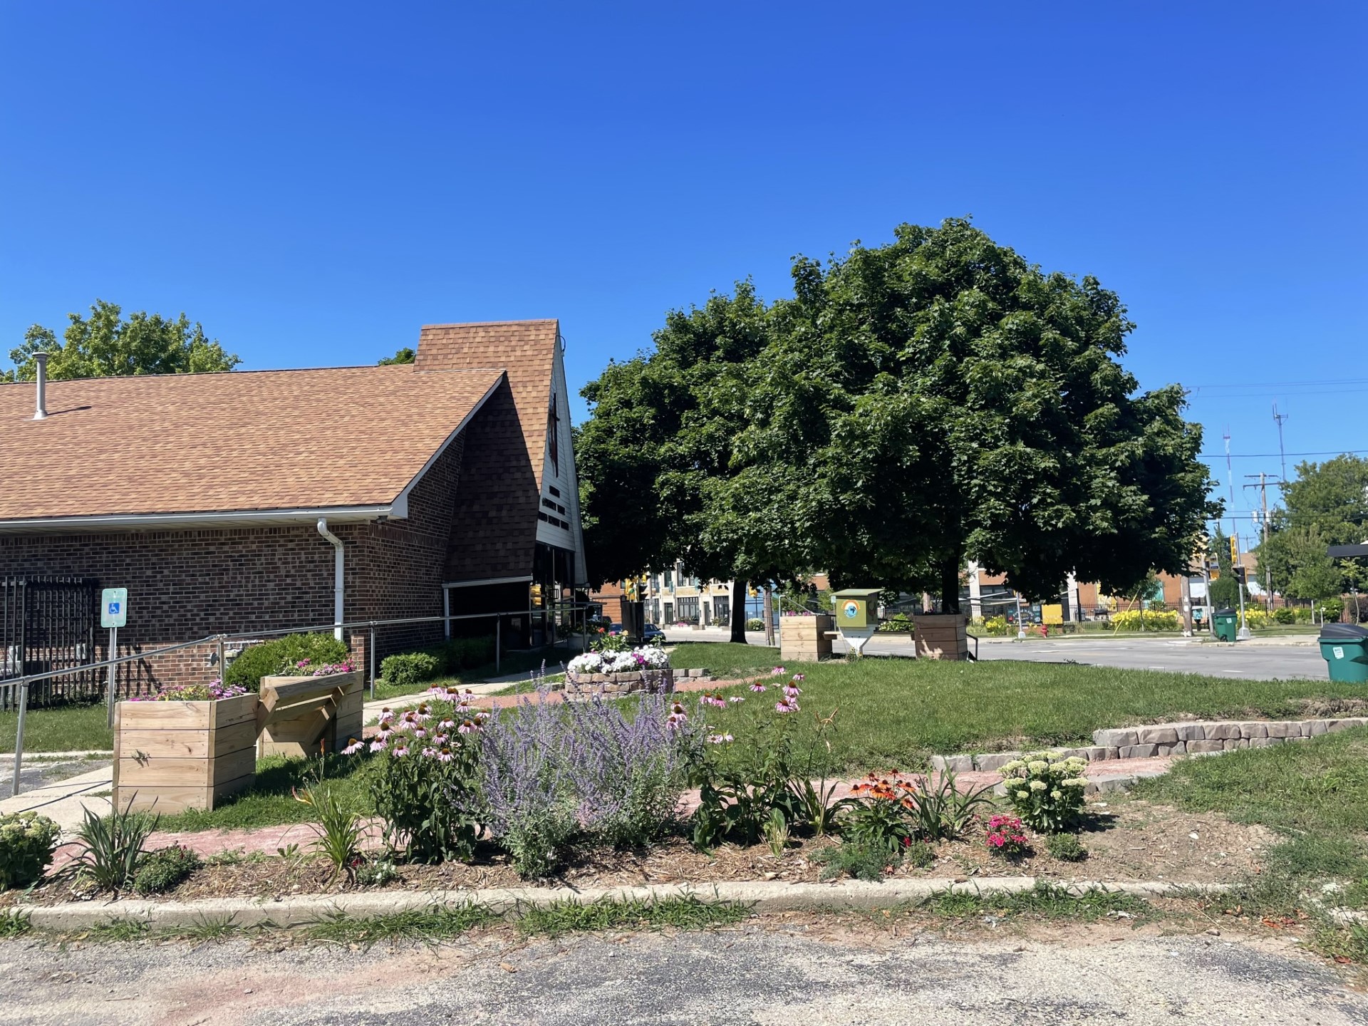
M 8 0 L 0 367 L 101 297 L 245 367 L 557 316 L 577 389 L 711 289 L 774 298 L 795 253 L 971 215 L 1120 293 L 1127 365 L 1201 386 L 1205 451 L 1276 454 L 1275 399 L 1289 451 L 1368 449 L 1365 29 L 1363 3 Z

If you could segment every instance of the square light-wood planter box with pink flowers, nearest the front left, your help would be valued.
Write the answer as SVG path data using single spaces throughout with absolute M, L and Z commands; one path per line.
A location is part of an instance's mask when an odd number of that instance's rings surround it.
M 170 815 L 213 808 L 224 796 L 250 787 L 256 713 L 256 695 L 119 702 L 114 707 L 114 806 Z

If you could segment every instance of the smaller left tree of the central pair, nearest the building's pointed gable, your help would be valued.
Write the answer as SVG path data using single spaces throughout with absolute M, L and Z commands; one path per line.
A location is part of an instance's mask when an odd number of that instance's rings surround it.
M 748 378 L 769 343 L 769 313 L 750 282 L 735 295 L 674 311 L 655 347 L 614 363 L 583 395 L 591 416 L 575 439 L 590 575 L 621 580 L 681 560 L 699 577 L 733 580 L 732 640 L 746 640 L 746 581 L 770 580 L 777 524 L 739 494 L 766 487 L 766 468 L 735 466 L 750 415 Z

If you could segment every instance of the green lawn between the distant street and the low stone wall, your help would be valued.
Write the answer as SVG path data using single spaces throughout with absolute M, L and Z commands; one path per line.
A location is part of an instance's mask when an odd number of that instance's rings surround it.
M 772 668 L 773 648 L 680 644 L 676 666 L 740 676 Z M 802 672 L 803 718 L 833 709 L 834 754 L 851 770 L 910 769 L 933 752 L 1089 743 L 1103 726 L 1179 718 L 1293 717 L 1298 699 L 1356 698 L 1361 685 L 1328 680 L 1233 680 L 993 659 L 880 659 L 788 663 Z M 746 695 L 739 685 L 729 694 Z M 763 700 L 761 696 L 755 699 Z M 718 728 L 735 710 L 718 710 Z M 710 720 L 709 722 L 713 722 Z

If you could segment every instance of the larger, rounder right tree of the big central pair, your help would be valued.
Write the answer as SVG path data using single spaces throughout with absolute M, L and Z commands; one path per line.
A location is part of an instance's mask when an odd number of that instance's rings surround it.
M 798 259 L 752 378 L 736 450 L 769 468 L 802 562 L 944 610 L 966 560 L 1036 598 L 1068 572 L 1119 594 L 1185 572 L 1213 512 L 1201 427 L 1181 387 L 1122 368 L 1116 294 L 963 220 L 895 235 Z

